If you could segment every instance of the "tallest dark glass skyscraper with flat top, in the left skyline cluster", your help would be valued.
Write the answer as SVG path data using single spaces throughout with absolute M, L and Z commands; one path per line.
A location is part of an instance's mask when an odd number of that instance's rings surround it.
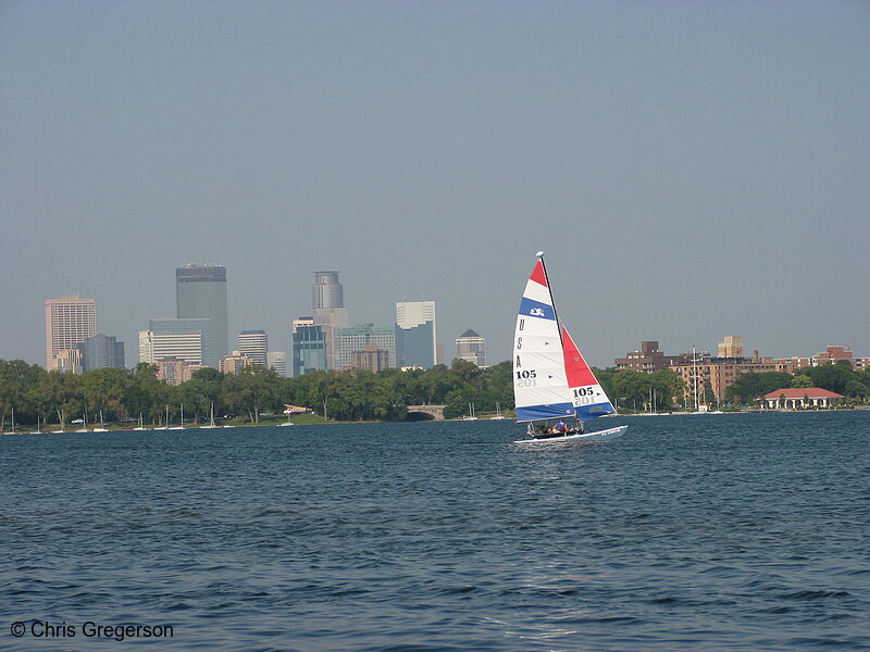
M 179 319 L 211 319 L 203 329 L 202 364 L 217 367 L 229 353 L 226 310 L 226 267 L 189 263 L 175 269 L 175 303 Z

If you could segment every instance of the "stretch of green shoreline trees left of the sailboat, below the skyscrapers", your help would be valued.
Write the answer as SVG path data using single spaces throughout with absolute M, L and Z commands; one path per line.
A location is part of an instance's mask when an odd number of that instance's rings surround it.
M 107 423 L 138 421 L 160 425 L 240 417 L 258 423 L 262 414 L 281 414 L 285 404 L 310 408 L 335 421 L 398 421 L 407 406 L 446 404 L 445 416 L 513 408 L 509 362 L 480 368 L 464 360 L 428 369 L 363 369 L 311 372 L 281 378 L 259 365 L 237 374 L 212 368 L 194 373 L 190 380 L 170 386 L 157 377 L 157 367 L 141 363 L 134 369 L 101 368 L 75 375 L 47 372 L 22 360 L 0 360 L 0 413 L 9 423 L 58 424 L 100 417 Z

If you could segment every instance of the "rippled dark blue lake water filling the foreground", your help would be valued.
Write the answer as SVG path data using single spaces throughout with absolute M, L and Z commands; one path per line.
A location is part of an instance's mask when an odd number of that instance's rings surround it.
M 870 649 L 870 412 L 606 423 L 0 438 L 0 648 Z

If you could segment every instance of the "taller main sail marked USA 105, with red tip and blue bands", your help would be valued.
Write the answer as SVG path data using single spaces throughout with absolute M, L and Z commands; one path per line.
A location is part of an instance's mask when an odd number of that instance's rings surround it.
M 564 355 L 544 262 L 525 284 L 513 334 L 513 398 L 517 421 L 574 415 L 568 394 Z

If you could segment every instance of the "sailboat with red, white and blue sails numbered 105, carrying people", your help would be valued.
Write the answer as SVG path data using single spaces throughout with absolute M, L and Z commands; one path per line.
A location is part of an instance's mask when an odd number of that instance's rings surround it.
M 517 423 L 529 424 L 519 443 L 595 441 L 622 436 L 629 426 L 584 432 L 583 422 L 616 414 L 574 340 L 559 323 L 544 252 L 525 284 L 513 336 L 513 398 Z M 568 427 L 566 418 L 576 418 Z M 547 422 L 558 421 L 552 431 Z M 535 428 L 535 422 L 543 422 Z

